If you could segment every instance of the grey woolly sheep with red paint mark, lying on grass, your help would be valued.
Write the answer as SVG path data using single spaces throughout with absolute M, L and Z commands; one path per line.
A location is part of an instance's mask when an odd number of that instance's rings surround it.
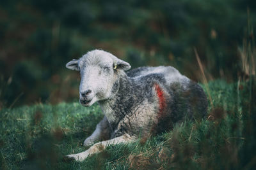
M 104 50 L 93 50 L 66 67 L 81 73 L 80 103 L 88 107 L 98 102 L 104 113 L 93 134 L 84 140 L 84 146 L 92 146 L 67 155 L 68 159 L 83 161 L 108 145 L 147 138 L 207 113 L 204 90 L 171 66 L 127 71 L 131 68 L 128 62 Z

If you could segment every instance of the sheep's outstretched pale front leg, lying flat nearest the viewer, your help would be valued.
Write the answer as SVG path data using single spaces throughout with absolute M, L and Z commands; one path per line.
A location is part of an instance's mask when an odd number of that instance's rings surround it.
M 99 143 L 95 143 L 93 146 L 91 146 L 85 152 L 72 154 L 72 155 L 67 155 L 67 158 L 68 159 L 74 159 L 76 161 L 83 161 L 89 155 L 92 155 L 94 153 L 102 152 L 103 150 L 105 150 L 106 146 L 108 146 L 108 145 L 116 145 L 118 143 L 128 143 L 130 141 L 134 141 L 134 138 L 129 136 L 129 134 L 124 134 L 122 136 L 119 136 L 119 137 L 114 138 L 114 139 L 110 139 L 108 141 L 102 141 L 102 142 L 99 142 Z

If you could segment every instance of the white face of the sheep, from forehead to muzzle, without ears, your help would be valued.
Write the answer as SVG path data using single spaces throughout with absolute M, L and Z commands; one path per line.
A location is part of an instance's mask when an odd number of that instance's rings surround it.
M 88 60 L 79 62 L 81 82 L 79 86 L 80 103 L 91 106 L 95 101 L 108 99 L 115 83 L 113 62 L 100 61 L 90 63 Z

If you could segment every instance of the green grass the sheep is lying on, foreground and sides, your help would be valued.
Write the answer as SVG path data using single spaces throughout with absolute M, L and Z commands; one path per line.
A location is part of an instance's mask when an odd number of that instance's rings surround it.
M 108 146 L 84 162 L 61 159 L 87 149 L 82 143 L 103 117 L 97 104 L 3 109 L 0 169 L 253 169 L 253 85 L 254 81 L 241 85 L 211 81 L 213 108 L 209 104 L 204 120 L 186 121 L 170 132 L 129 145 Z

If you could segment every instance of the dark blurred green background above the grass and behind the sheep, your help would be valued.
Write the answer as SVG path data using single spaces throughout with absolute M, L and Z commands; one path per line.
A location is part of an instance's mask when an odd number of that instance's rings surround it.
M 65 64 L 100 48 L 138 66 L 174 66 L 195 81 L 236 80 L 255 0 L 0 2 L 0 109 L 77 99 Z

